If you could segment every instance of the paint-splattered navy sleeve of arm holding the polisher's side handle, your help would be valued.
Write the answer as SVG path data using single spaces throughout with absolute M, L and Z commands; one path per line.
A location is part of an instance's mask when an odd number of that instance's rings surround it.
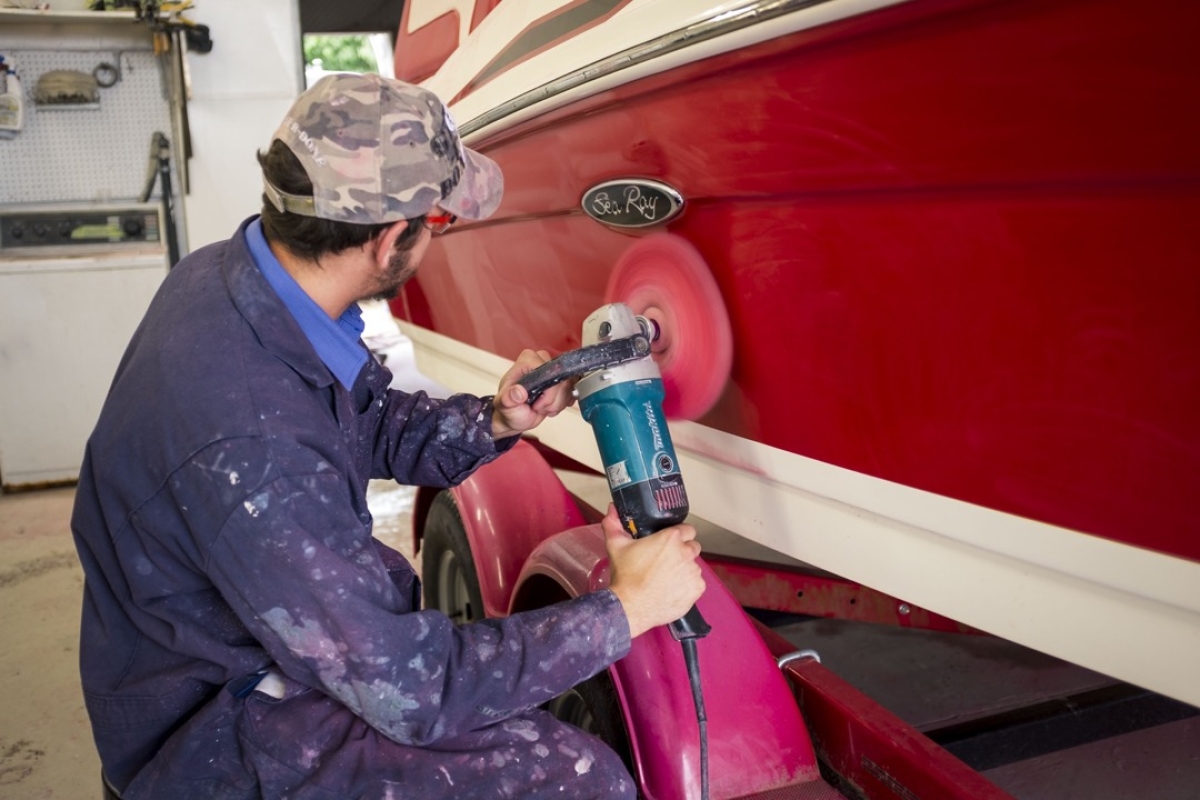
M 510 450 L 517 438 L 492 438 L 492 398 L 390 390 L 360 422 L 360 446 L 371 452 L 371 477 L 408 486 L 456 486 Z

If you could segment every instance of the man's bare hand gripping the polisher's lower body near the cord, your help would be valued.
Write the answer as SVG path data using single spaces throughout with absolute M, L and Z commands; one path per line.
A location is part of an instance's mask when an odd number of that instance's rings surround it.
M 691 525 L 664 528 L 635 540 L 610 505 L 600 527 L 612 569 L 608 588 L 625 609 L 631 637 L 676 621 L 704 594 L 704 576 L 696 564 L 700 542 Z

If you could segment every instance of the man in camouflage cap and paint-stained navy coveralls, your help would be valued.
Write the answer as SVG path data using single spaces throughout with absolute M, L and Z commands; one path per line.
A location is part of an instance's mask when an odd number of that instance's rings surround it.
M 80 666 L 125 800 L 632 798 L 599 741 L 536 706 L 703 590 L 686 525 L 605 521 L 611 589 L 455 627 L 371 536 L 370 479 L 451 486 L 570 402 L 389 390 L 356 302 L 434 229 L 499 204 L 494 163 L 432 94 L 332 76 L 270 149 L 260 217 L 184 259 L 122 359 L 72 529 Z

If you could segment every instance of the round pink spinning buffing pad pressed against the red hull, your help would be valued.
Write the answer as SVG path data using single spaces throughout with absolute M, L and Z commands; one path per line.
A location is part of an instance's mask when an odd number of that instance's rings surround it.
M 638 240 L 613 267 L 605 302 L 623 302 L 658 324 L 650 349 L 670 419 L 696 420 L 713 408 L 733 366 L 733 332 L 713 273 L 686 239 Z

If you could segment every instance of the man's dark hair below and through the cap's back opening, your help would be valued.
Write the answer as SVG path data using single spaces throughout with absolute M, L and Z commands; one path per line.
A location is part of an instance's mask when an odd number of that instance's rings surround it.
M 276 139 L 265 154 L 258 152 L 258 163 L 263 174 L 278 190 L 290 194 L 312 194 L 312 181 L 304 164 L 286 144 Z M 409 219 L 408 227 L 396 240 L 400 252 L 412 247 L 421 231 L 422 219 Z M 384 230 L 396 224 L 385 222 L 373 225 L 360 225 L 353 222 L 335 222 L 319 217 L 306 217 L 288 213 L 275 207 L 263 194 L 263 233 L 266 239 L 278 242 L 295 255 L 316 261 L 322 255 L 336 254 L 350 247 L 361 247 Z

